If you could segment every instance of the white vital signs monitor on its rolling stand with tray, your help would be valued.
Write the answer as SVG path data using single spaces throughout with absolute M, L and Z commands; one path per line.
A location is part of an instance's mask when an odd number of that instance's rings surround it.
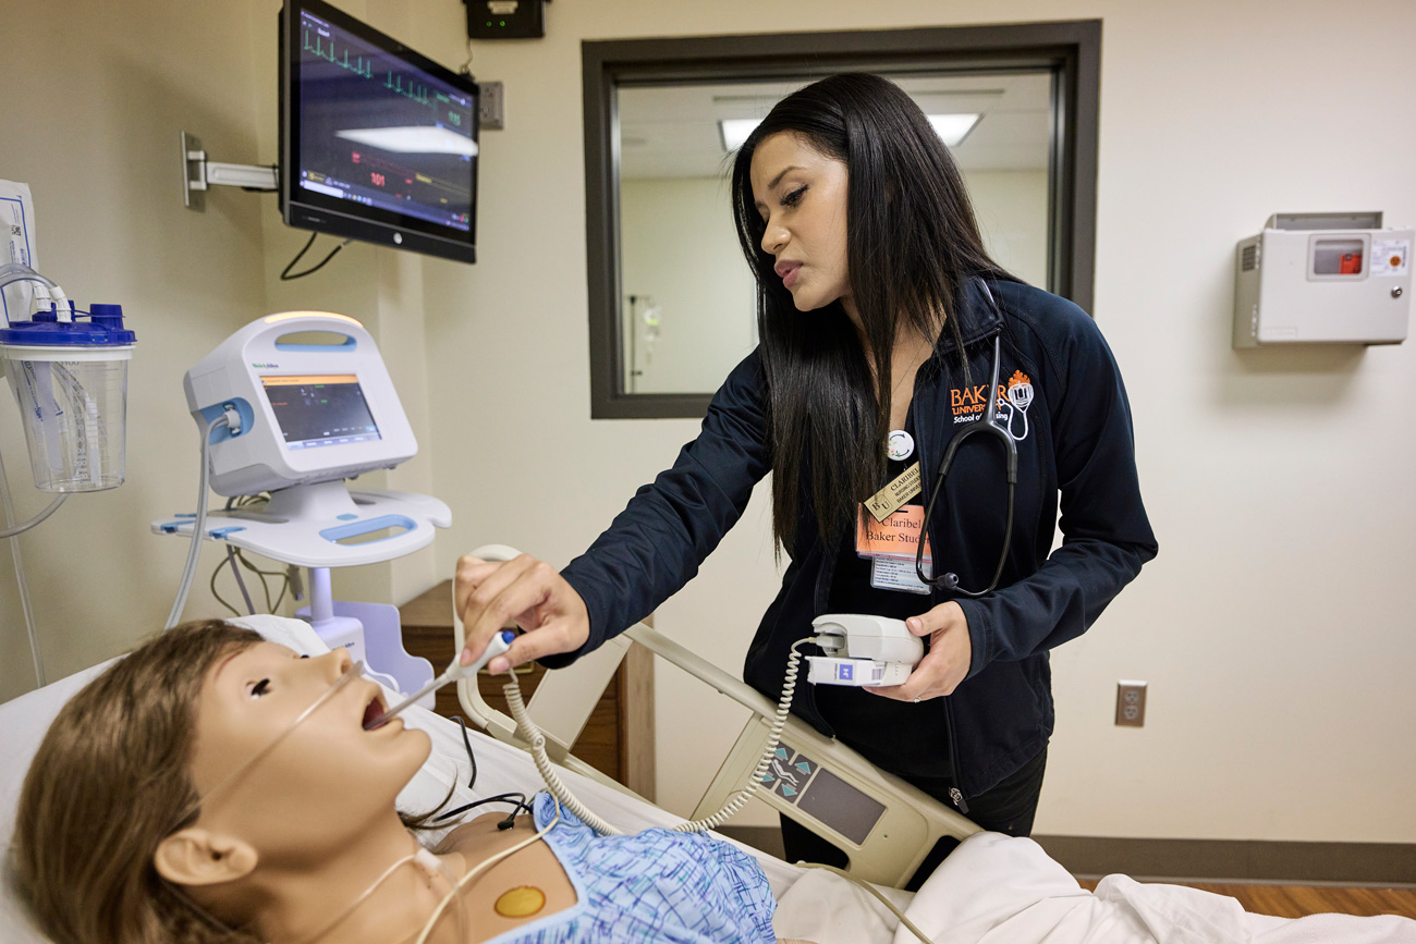
M 201 543 L 214 541 L 225 545 L 232 570 L 242 551 L 309 568 L 309 618 L 320 638 L 348 648 L 398 691 L 423 686 L 432 665 L 404 650 L 398 607 L 337 601 L 330 585 L 330 568 L 412 553 L 452 524 L 447 505 L 430 495 L 346 485 L 418 453 L 364 326 L 330 311 L 266 316 L 218 344 L 183 386 L 204 464 L 197 511 L 177 510 L 152 525 L 191 539 L 167 627 L 181 620 Z M 210 491 L 249 500 L 208 512 Z M 249 596 L 246 606 L 255 613 Z

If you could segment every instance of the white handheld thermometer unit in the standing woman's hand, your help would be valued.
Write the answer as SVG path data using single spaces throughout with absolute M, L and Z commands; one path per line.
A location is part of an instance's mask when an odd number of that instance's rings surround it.
M 809 682 L 817 685 L 899 685 L 925 658 L 925 644 L 901 620 L 864 613 L 827 613 L 811 620 L 826 640 L 809 655 Z

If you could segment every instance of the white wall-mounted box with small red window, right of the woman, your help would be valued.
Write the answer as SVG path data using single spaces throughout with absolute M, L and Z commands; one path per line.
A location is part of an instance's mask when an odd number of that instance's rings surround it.
M 1235 249 L 1233 345 L 1400 344 L 1413 241 L 1379 212 L 1273 214 Z

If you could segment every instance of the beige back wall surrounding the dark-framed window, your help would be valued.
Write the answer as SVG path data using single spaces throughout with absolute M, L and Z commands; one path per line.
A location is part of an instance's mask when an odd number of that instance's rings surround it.
M 456 61 L 456 11 L 429 10 L 409 40 Z M 1406 3 L 1341 20 L 1289 3 L 1279 20 L 1215 0 L 600 0 L 548 6 L 542 41 L 479 44 L 473 71 L 507 98 L 507 130 L 484 134 L 481 260 L 425 287 L 432 426 L 476 426 L 438 439 L 457 517 L 439 566 L 484 541 L 568 560 L 697 427 L 589 420 L 582 40 L 1069 17 L 1104 20 L 1095 314 L 1130 384 L 1161 556 L 1056 652 L 1038 829 L 1413 842 L 1416 491 L 1399 470 L 1416 459 L 1416 347 L 1240 355 L 1228 327 L 1233 245 L 1270 212 L 1416 219 L 1416 184 L 1391 173 L 1416 129 L 1381 105 L 1416 79 L 1371 69 L 1405 61 Z M 759 497 L 660 610 L 731 669 L 776 582 L 765 512 Z M 1143 730 L 1112 725 L 1119 678 L 1151 684 Z M 731 712 L 658 691 L 658 795 L 685 810 L 708 742 L 732 737 L 704 719 Z

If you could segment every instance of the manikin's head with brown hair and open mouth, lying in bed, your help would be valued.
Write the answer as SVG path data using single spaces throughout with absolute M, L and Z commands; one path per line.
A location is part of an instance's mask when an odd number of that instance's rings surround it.
M 16 824 L 14 882 L 40 930 L 59 944 L 256 940 L 193 903 L 246 923 L 282 876 L 394 815 L 428 757 L 421 732 L 362 729 L 379 689 L 361 678 L 290 729 L 348 664 L 344 650 L 302 658 L 212 620 L 156 637 L 75 695 Z

